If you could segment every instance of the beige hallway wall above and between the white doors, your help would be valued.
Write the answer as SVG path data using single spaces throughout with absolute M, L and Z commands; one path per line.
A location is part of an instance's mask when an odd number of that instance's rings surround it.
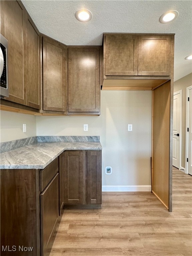
M 182 141 L 181 141 L 181 167 L 185 168 L 186 151 L 186 88 L 192 85 L 192 73 L 174 82 L 174 92 L 182 90 Z

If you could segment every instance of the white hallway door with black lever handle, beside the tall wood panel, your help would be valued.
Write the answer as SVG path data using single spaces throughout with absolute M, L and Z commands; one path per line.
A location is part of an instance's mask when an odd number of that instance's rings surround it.
M 173 96 L 173 166 L 181 167 L 182 90 Z

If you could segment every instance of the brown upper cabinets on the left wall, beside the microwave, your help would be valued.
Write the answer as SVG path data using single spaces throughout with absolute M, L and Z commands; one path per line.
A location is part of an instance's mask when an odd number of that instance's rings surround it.
M 1 1 L 1 34 L 8 40 L 8 101 L 40 108 L 39 32 L 21 1 Z

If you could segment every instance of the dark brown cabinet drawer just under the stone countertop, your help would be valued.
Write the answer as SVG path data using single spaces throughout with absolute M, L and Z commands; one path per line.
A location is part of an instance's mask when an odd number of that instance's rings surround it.
M 59 171 L 58 157 L 45 169 L 40 171 L 40 191 L 43 191 L 55 174 Z

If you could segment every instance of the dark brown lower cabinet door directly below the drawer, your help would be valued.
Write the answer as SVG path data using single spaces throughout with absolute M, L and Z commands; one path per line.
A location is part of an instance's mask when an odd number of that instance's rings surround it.
M 52 246 L 52 235 L 59 215 L 59 174 L 56 174 L 40 195 L 41 199 L 41 255 Z

